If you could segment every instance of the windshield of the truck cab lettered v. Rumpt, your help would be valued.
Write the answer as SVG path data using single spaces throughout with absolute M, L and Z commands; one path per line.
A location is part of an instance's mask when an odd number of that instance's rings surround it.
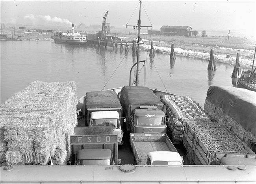
M 137 118 L 137 121 L 136 121 Z M 165 125 L 165 117 L 135 117 L 137 125 L 162 126 Z

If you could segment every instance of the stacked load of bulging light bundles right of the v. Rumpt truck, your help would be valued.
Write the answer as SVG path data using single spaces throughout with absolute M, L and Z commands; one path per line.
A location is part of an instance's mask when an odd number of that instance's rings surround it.
M 174 144 L 182 143 L 188 120 L 211 122 L 197 103 L 187 96 L 161 95 L 160 100 L 166 105 L 168 132 Z

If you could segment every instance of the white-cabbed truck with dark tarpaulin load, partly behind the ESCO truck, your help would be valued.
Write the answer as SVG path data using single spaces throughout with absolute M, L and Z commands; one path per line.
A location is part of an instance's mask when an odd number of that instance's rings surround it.
M 117 135 L 118 144 L 122 145 L 121 126 L 122 106 L 113 91 L 87 92 L 84 97 L 83 115 L 87 126 L 111 126 L 113 135 Z

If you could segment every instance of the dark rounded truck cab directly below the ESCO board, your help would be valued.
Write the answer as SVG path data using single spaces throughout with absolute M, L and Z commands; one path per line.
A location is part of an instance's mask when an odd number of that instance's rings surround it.
M 76 165 L 115 165 L 110 149 L 80 149 Z

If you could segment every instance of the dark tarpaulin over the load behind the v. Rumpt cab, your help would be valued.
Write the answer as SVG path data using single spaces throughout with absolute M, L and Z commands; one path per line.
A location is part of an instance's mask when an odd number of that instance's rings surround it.
M 124 112 L 128 112 L 129 105 L 163 105 L 150 88 L 143 86 L 124 86 L 121 90 L 120 102 Z

